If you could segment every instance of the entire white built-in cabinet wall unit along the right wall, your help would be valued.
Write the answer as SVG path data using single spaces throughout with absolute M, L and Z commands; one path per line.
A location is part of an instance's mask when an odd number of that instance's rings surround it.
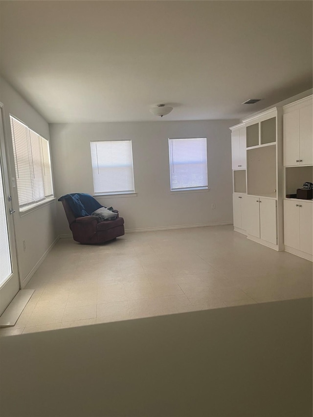
M 313 182 L 313 96 L 246 118 L 231 130 L 234 230 L 313 258 L 313 200 L 287 198 Z

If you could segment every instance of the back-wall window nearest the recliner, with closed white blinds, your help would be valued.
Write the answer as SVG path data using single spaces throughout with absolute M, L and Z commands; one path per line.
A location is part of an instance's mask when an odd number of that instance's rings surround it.
M 134 193 L 131 140 L 90 142 L 94 194 Z

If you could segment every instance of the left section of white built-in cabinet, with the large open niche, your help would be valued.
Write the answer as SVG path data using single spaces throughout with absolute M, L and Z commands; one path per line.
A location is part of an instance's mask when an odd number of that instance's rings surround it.
M 273 108 L 230 128 L 234 230 L 276 250 L 283 249 L 282 125 L 282 109 Z

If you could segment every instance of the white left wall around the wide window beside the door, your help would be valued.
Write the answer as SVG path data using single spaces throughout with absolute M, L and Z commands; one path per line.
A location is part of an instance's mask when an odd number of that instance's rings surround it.
M 9 151 L 11 177 L 15 177 L 12 136 L 10 128 L 10 114 L 16 116 L 35 132 L 49 139 L 49 126 L 45 119 L 27 103 L 5 80 L 0 79 L 0 101 L 4 105 L 5 131 Z M 57 238 L 56 233 L 56 202 L 30 213 L 19 213 L 17 188 L 12 188 L 14 226 L 17 242 L 19 273 L 22 286 L 41 258 Z M 26 243 L 23 251 L 22 241 Z

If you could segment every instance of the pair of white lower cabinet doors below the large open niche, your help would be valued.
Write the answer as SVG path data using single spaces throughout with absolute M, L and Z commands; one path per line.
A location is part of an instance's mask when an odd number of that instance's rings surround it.
M 246 196 L 246 232 L 250 236 L 277 244 L 275 199 Z

